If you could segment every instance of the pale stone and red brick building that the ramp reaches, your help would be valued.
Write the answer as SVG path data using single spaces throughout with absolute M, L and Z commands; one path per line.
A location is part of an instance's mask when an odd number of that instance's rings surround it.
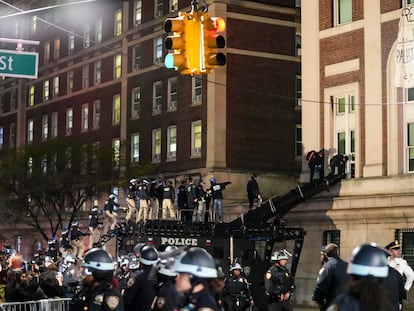
M 349 259 L 362 243 L 398 239 L 414 265 L 414 106 L 412 88 L 394 83 L 399 23 L 410 2 L 302 2 L 303 149 L 324 149 L 326 170 L 336 154 L 349 161 L 347 179 L 286 217 L 307 231 L 298 303 L 312 304 L 320 248 L 329 242 Z M 301 178 L 309 178 L 305 162 Z

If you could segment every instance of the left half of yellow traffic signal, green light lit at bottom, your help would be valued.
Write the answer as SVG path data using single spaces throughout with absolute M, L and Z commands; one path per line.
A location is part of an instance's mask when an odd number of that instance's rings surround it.
M 165 67 L 173 68 L 182 74 L 201 73 L 202 13 L 179 13 L 177 18 L 164 22 L 164 30 L 171 33 L 165 39 L 169 53 L 165 57 Z

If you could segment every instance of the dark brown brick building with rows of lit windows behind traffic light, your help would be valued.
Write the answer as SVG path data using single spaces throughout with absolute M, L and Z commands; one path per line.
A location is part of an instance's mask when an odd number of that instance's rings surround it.
M 295 2 L 207 1 L 210 15 L 226 21 L 227 64 L 201 76 L 163 63 L 164 20 L 190 11 L 190 0 L 3 3 L 0 38 L 38 41 L 23 47 L 39 53 L 39 73 L 0 81 L 0 149 L 53 139 L 111 146 L 124 183 L 140 166 L 150 167 L 145 177 L 177 182 L 214 176 L 232 181 L 230 207 L 247 201 L 252 173 L 264 195 L 284 192 L 302 157 Z M 48 5 L 56 7 L 34 10 Z M 118 188 L 110 190 L 122 198 Z

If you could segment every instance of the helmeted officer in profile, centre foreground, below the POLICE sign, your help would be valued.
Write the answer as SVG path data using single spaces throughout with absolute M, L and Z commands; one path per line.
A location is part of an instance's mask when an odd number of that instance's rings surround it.
M 184 303 L 178 310 L 219 311 L 215 298 L 209 291 L 208 280 L 216 279 L 214 258 L 203 248 L 191 247 L 182 253 L 174 264 L 177 273 L 175 287 L 184 294 Z

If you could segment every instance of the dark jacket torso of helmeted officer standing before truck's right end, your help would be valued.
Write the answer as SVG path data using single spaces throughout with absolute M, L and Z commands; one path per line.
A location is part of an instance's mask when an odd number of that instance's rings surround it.
M 295 289 L 293 276 L 283 266 L 273 265 L 265 275 L 265 288 L 270 296 L 279 296 Z

